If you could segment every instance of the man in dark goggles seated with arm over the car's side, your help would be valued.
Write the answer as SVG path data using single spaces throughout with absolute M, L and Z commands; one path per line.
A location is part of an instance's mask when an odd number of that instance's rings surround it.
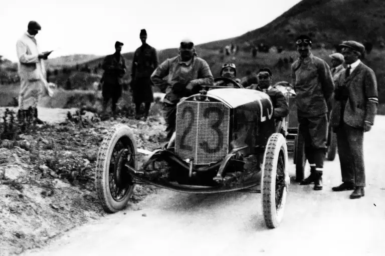
M 273 118 L 284 118 L 289 115 L 289 105 L 283 93 L 272 87 L 272 76 L 273 73 L 269 68 L 260 69 L 258 72 L 259 84 L 253 84 L 246 89 L 258 90 L 269 95 L 274 107 Z

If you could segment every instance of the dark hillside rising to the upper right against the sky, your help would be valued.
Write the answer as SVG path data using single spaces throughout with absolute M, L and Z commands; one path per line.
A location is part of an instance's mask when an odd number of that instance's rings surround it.
M 378 45 L 385 38 L 384 18 L 383 0 L 303 0 L 262 28 L 202 47 L 218 49 L 231 42 L 249 41 L 293 49 L 299 34 L 313 37 L 316 47 L 325 44 L 332 48 L 343 40 Z

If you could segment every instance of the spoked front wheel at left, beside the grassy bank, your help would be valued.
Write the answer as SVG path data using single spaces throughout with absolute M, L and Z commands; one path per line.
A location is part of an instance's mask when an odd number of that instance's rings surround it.
M 137 168 L 136 143 L 129 127 L 114 126 L 103 139 L 96 163 L 96 191 L 106 212 L 123 209 L 134 184 L 125 164 Z

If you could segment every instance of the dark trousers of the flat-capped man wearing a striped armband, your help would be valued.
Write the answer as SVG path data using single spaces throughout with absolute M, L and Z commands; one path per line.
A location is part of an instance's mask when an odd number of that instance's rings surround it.
M 342 182 L 364 187 L 363 130 L 344 123 L 337 130 L 337 146 Z

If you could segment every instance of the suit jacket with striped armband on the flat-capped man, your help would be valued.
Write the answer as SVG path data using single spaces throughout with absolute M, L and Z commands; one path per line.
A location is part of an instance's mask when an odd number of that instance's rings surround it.
M 340 100 L 343 86 L 348 98 Z M 363 128 L 364 122 L 374 124 L 378 92 L 373 70 L 361 62 L 347 78 L 346 73 L 342 73 L 336 83 L 335 100 L 331 126 L 341 124 L 341 114 L 343 122 L 355 128 Z

